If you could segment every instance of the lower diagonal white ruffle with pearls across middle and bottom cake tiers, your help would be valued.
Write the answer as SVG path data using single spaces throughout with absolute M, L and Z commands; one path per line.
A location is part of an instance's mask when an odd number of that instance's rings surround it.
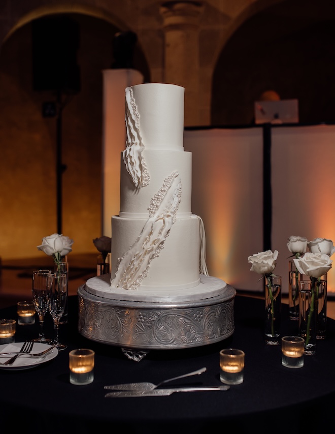
M 151 199 L 149 219 L 129 250 L 119 258 L 111 287 L 137 290 L 148 275 L 150 263 L 159 256 L 176 221 L 181 199 L 181 180 L 178 172 L 164 179 L 160 190 Z

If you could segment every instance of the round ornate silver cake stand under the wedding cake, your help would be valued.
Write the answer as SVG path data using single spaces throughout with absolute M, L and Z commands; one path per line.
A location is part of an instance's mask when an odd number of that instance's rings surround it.
M 78 330 L 140 361 L 150 350 L 200 347 L 231 336 L 235 295 L 236 290 L 226 285 L 215 297 L 157 304 L 98 297 L 83 285 L 78 289 Z

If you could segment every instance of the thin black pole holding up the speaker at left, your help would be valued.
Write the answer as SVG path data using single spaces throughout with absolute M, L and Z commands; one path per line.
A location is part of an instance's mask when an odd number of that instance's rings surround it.
M 57 118 L 56 118 L 56 207 L 57 233 L 62 233 L 62 151 L 61 151 L 61 90 L 57 90 Z

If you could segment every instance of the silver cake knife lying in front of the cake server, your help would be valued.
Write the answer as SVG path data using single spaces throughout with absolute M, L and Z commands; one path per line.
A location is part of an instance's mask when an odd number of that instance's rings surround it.
M 114 390 L 106 393 L 105 398 L 132 398 L 143 396 L 169 396 L 175 392 L 212 392 L 228 390 L 230 386 L 201 386 L 201 387 L 180 387 L 176 389 L 153 389 L 146 391 L 135 390 Z

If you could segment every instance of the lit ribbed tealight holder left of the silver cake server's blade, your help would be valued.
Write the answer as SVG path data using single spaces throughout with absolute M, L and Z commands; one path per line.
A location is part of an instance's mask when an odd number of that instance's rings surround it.
M 70 383 L 77 386 L 92 383 L 94 379 L 94 351 L 86 348 L 69 353 Z

